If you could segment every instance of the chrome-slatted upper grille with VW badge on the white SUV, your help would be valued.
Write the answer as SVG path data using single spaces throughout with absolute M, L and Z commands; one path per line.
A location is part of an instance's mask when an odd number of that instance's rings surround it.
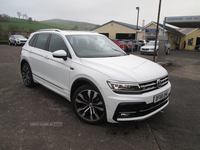
M 168 83 L 168 81 L 169 81 L 168 76 L 165 76 L 158 80 L 139 84 L 139 86 L 141 88 L 141 92 L 145 93 L 145 92 L 149 92 L 149 91 L 152 91 L 152 90 L 155 90 L 155 89 L 165 86 Z M 160 85 L 158 85 L 159 84 L 158 82 L 160 82 Z

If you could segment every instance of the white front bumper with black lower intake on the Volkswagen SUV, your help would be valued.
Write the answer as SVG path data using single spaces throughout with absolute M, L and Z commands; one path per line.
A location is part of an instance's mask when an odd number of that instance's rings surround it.
M 164 91 L 167 91 L 168 96 L 154 103 L 154 96 Z M 168 82 L 160 89 L 136 95 L 111 92 L 106 93 L 107 96 L 110 94 L 106 99 L 107 121 L 112 123 L 139 121 L 158 113 L 169 104 L 171 84 Z

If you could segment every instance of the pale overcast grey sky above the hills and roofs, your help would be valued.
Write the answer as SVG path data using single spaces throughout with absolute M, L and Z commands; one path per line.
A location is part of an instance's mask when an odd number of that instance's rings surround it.
M 0 14 L 33 20 L 64 19 L 102 25 L 111 20 L 139 26 L 157 21 L 159 0 L 0 0 Z M 164 17 L 200 15 L 200 0 L 162 0 L 160 23 Z

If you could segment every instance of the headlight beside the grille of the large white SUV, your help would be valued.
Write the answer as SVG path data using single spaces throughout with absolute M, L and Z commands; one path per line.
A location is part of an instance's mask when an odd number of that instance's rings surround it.
M 137 83 L 107 81 L 109 87 L 118 94 L 141 94 L 141 87 Z

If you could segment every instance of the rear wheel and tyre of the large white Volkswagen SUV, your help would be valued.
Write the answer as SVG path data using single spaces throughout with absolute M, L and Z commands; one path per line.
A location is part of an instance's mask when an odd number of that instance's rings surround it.
M 33 81 L 32 71 L 28 63 L 24 63 L 22 65 L 21 74 L 25 86 L 33 87 L 35 85 Z

